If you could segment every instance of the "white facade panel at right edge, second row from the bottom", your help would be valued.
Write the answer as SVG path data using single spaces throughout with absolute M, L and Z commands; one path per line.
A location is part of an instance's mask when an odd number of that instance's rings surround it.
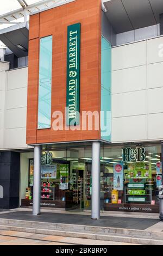
M 163 113 L 163 87 L 148 90 L 148 114 Z

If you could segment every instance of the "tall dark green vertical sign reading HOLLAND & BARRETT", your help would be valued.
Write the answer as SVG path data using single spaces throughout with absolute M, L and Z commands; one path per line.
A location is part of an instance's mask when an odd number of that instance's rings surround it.
M 79 125 L 80 108 L 80 23 L 67 28 L 66 124 Z

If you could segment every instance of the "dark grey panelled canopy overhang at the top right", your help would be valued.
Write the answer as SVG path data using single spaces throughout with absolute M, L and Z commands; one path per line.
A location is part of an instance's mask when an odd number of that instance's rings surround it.
M 156 25 L 163 13 L 162 0 L 103 0 L 103 4 L 116 33 Z

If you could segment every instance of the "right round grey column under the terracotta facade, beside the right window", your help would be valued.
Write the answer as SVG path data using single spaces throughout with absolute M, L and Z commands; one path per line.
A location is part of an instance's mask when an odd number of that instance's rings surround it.
M 100 142 L 92 143 L 92 219 L 100 218 Z

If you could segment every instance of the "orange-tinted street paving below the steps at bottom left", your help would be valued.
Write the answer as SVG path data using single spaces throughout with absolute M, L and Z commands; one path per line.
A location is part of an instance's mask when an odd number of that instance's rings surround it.
M 1 245 L 134 245 L 133 243 L 121 243 L 80 239 L 74 237 L 54 236 L 24 233 L 18 231 L 0 230 Z

